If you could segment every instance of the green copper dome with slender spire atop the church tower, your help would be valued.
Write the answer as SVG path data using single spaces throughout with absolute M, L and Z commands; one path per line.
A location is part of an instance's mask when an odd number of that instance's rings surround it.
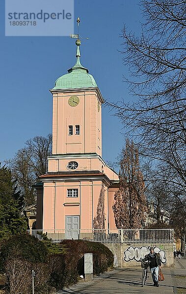
M 80 63 L 80 41 L 78 41 L 76 42 L 76 64 L 68 70 L 67 74 L 60 76 L 55 81 L 53 90 L 98 87 L 93 76 Z

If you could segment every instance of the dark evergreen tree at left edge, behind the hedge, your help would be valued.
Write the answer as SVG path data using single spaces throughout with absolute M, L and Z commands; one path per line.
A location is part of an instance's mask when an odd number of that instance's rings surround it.
M 23 196 L 12 180 L 11 171 L 0 166 L 0 239 L 26 231 L 22 208 Z

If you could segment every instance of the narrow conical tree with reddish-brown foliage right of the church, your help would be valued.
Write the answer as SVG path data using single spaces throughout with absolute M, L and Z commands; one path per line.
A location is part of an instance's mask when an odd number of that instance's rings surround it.
M 119 190 L 114 196 L 115 224 L 120 229 L 141 228 L 147 217 L 145 184 L 139 167 L 138 149 L 126 140 L 119 172 Z

